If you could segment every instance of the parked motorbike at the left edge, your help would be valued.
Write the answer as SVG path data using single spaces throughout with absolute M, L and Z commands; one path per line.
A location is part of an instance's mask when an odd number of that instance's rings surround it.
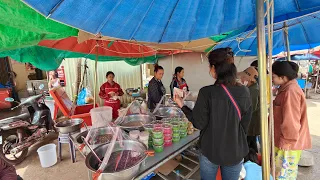
M 9 164 L 21 163 L 28 148 L 54 131 L 50 109 L 44 103 L 45 93 L 31 96 L 11 108 L 26 108 L 26 112 L 0 120 L 0 158 Z M 10 101 L 6 99 L 6 101 Z

